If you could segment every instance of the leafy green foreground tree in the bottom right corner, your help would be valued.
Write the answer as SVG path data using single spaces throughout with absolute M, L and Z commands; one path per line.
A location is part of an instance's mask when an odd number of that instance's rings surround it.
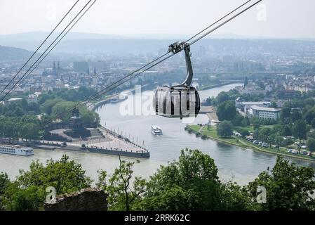
M 257 203 L 257 188 L 264 187 L 266 203 Z M 255 181 L 246 186 L 251 210 L 314 210 L 311 195 L 315 190 L 314 169 L 297 167 L 279 156 L 276 165 L 269 172 L 262 172 Z

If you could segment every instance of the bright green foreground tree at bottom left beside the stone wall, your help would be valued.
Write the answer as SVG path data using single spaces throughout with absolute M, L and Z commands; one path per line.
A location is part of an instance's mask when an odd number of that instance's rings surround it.
M 34 211 L 42 209 L 47 187 L 53 186 L 57 195 L 72 193 L 90 187 L 91 179 L 81 165 L 63 155 L 58 161 L 48 160 L 46 166 L 32 162 L 29 171 L 20 170 L 16 180 L 6 184 L 0 198 L 5 210 Z

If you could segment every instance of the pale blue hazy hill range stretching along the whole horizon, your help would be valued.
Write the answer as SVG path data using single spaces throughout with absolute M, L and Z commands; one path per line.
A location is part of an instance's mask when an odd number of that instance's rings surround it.
M 50 43 L 58 32 L 53 34 Z M 0 45 L 18 47 L 34 51 L 41 41 L 47 37 L 48 32 L 27 32 L 21 34 L 0 35 Z M 104 54 L 126 56 L 131 54 L 163 53 L 173 41 L 184 41 L 188 34 L 129 34 L 124 36 L 112 34 L 93 34 L 83 32 L 71 32 L 58 44 L 51 55 L 72 54 L 72 56 L 86 56 L 93 54 L 98 57 Z M 201 47 L 210 51 L 213 55 L 236 55 L 249 53 L 306 53 L 309 54 L 315 48 L 314 40 L 290 40 L 290 39 L 262 39 L 240 37 L 235 34 L 211 35 L 211 39 L 202 39 L 193 46 L 192 53 L 199 51 Z M 43 48 L 40 50 L 43 51 Z M 14 53 L 13 53 L 14 54 Z M 18 55 L 17 55 L 18 56 Z M 25 56 L 21 54 L 21 56 Z M 0 56 L 3 60 L 3 56 Z M 19 56 L 18 56 L 19 57 Z

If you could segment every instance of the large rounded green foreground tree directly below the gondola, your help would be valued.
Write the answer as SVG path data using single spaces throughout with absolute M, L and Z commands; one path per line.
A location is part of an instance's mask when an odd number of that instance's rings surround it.
M 182 150 L 178 161 L 160 169 L 149 180 L 138 210 L 243 210 L 239 186 L 224 186 L 209 155 Z

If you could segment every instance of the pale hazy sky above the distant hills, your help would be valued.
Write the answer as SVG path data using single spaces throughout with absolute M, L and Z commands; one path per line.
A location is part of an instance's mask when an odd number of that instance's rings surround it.
M 246 0 L 98 0 L 75 32 L 194 34 Z M 49 31 L 75 0 L 0 0 L 0 34 Z M 79 6 L 87 0 L 80 0 Z M 263 4 L 263 5 L 262 5 Z M 315 38 L 314 0 L 265 0 L 217 34 Z M 72 13 L 74 15 L 74 13 Z M 69 19 L 68 19 L 69 21 Z

